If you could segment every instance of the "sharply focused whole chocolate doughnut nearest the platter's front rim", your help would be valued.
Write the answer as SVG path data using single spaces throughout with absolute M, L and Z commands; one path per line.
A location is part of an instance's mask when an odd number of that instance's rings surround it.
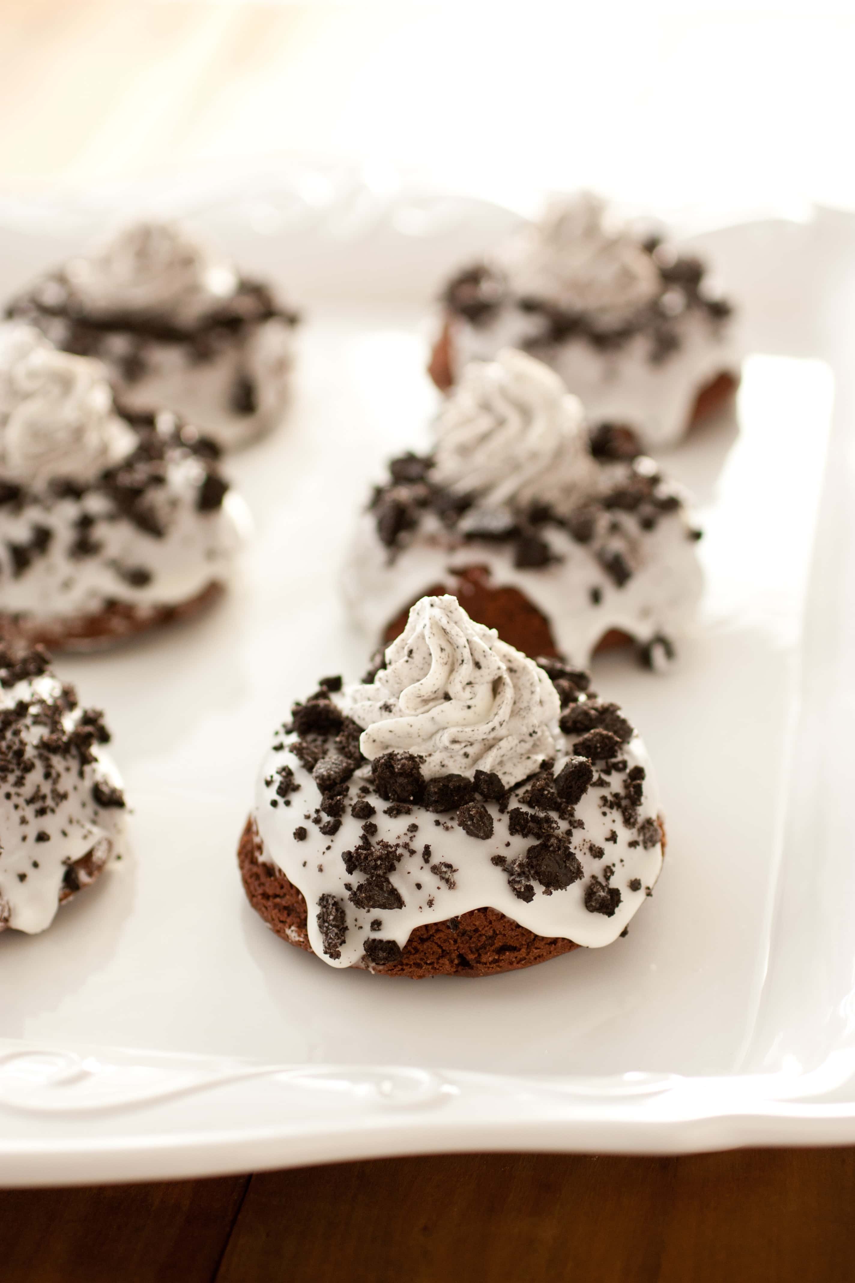
M 626 934 L 664 821 L 587 674 L 426 597 L 361 683 L 274 733 L 238 844 L 253 908 L 332 967 L 496 975 Z

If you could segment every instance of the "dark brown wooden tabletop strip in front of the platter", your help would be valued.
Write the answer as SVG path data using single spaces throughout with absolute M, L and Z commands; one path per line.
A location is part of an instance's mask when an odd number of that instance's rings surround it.
M 387 1159 L 0 1193 L 3 1283 L 854 1277 L 854 1150 Z

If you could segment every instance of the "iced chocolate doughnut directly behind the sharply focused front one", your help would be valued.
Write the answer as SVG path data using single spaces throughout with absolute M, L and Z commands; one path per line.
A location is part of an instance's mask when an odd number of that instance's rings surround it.
M 590 427 L 559 376 L 519 350 L 474 361 L 361 513 L 342 590 L 372 642 L 420 597 L 451 593 L 531 657 L 631 642 L 667 668 L 701 594 L 687 497 L 632 436 Z

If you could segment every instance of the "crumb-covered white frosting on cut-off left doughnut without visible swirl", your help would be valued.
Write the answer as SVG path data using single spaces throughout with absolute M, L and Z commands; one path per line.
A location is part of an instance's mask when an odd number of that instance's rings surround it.
M 44 931 L 120 847 L 109 739 L 44 652 L 0 650 L 0 931 Z

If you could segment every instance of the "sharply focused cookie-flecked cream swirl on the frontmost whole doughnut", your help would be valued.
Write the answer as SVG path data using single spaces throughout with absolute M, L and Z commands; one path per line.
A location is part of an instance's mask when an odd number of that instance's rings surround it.
M 373 760 L 415 753 L 426 779 L 495 771 L 509 786 L 561 751 L 558 693 L 533 659 L 469 618 L 454 597 L 423 597 L 369 685 L 344 708 Z

